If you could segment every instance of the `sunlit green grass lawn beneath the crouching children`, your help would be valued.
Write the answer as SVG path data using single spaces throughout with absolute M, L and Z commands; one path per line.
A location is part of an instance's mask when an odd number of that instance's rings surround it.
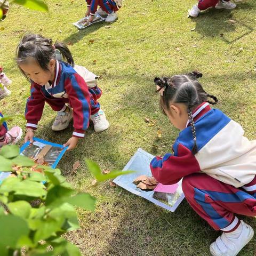
M 98 23 L 82 31 L 71 23 L 85 13 L 85 1 L 46 2 L 49 14 L 12 5 L 0 23 L 0 63 L 13 81 L 12 94 L 0 101 L 0 109 L 3 114 L 25 110 L 29 84 L 15 65 L 14 53 L 22 35 L 29 32 L 65 41 L 78 65 L 101 76 L 100 103 L 111 126 L 100 134 L 90 127 L 85 139 L 59 165 L 74 186 L 98 198 L 95 213 L 78 210 L 81 230 L 69 233 L 69 241 L 89 256 L 210 255 L 210 243 L 219 233 L 185 200 L 171 213 L 108 182 L 92 187 L 93 177 L 84 159 L 113 170 L 123 169 L 139 147 L 154 155 L 169 152 L 178 130 L 158 109 L 153 79 L 194 69 L 202 71 L 205 90 L 218 97 L 217 107 L 241 123 L 248 138 L 255 139 L 256 2 L 238 4 L 231 12 L 209 10 L 192 20 L 187 10 L 196 1 L 126 0 L 117 22 Z M 54 117 L 45 107 L 36 135 L 65 143 L 73 129 L 51 131 Z M 145 117 L 155 119 L 157 125 L 149 127 Z M 9 127 L 14 125 L 25 127 L 21 119 L 9 122 Z M 160 140 L 158 127 L 163 134 Z M 71 166 L 78 160 L 82 166 L 75 175 Z M 243 219 L 256 230 L 255 218 Z M 239 255 L 253 256 L 255 247 L 256 236 Z

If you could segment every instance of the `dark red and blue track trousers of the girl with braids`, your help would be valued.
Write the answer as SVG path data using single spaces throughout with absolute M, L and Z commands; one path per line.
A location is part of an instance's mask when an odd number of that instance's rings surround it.
M 235 230 L 239 220 L 234 213 L 256 216 L 256 188 L 249 194 L 207 174 L 194 173 L 183 178 L 182 189 L 191 207 L 215 230 Z

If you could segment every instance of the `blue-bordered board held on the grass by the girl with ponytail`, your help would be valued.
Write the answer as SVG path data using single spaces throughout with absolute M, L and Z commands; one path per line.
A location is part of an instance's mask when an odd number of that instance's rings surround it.
M 66 152 L 68 147 L 64 147 L 63 145 L 52 143 L 50 141 L 42 140 L 34 137 L 34 142 L 32 145 L 29 145 L 30 142 L 27 141 L 20 148 L 20 155 L 27 156 L 29 158 L 35 159 L 42 149 L 45 146 L 51 146 L 47 154 L 44 156 L 44 161 L 47 165 L 51 166 L 53 169 L 60 162 L 61 157 Z M 7 178 L 11 173 L 10 172 L 0 172 L 0 184 L 3 179 Z

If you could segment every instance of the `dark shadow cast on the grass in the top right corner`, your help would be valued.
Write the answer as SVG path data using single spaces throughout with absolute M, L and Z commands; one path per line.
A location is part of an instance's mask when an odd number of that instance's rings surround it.
M 239 4 L 239 9 L 254 9 L 252 3 Z M 206 37 L 221 37 L 227 44 L 232 44 L 252 33 L 254 26 L 247 25 L 246 21 L 236 21 L 234 10 L 217 10 L 214 8 L 201 12 L 198 18 L 193 19 L 196 23 L 195 30 Z M 230 21 L 231 20 L 231 21 Z M 234 21 L 235 20 L 235 21 Z M 242 31 L 237 31 L 234 36 L 227 34 L 236 30 L 236 26 L 242 27 Z

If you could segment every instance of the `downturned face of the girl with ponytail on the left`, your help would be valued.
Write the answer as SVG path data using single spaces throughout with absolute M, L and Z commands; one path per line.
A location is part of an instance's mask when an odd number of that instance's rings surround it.
M 23 63 L 20 68 L 27 74 L 27 76 L 39 85 L 45 85 L 48 81 L 53 81 L 55 61 L 50 60 L 48 70 L 43 70 L 35 60 L 28 63 Z

